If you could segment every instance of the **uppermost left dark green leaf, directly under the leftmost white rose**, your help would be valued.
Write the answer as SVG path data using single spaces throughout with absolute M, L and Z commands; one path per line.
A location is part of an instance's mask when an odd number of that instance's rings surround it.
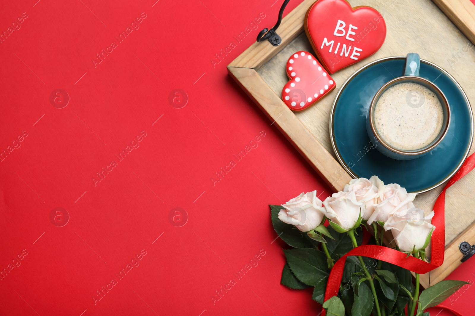
M 313 244 L 307 238 L 307 234 L 298 230 L 294 225 L 286 224 L 278 217 L 279 211 L 285 209 L 280 205 L 269 205 L 271 210 L 272 226 L 277 235 L 287 244 L 295 248 L 310 248 Z

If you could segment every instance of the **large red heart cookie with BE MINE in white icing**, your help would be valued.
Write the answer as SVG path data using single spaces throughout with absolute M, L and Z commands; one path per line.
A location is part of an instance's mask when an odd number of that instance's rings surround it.
M 371 7 L 317 0 L 305 15 L 305 33 L 325 69 L 334 73 L 371 56 L 386 38 L 386 23 Z

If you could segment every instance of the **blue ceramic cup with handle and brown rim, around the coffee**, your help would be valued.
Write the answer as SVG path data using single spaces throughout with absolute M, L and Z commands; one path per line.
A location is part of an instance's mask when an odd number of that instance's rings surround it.
M 380 88 L 380 90 L 376 92 L 376 95 L 372 99 L 370 108 L 368 110 L 368 115 L 366 117 L 366 130 L 368 132 L 368 135 L 370 136 L 370 139 L 371 140 L 374 139 L 376 141 L 376 144 L 377 144 L 376 148 L 381 153 L 393 159 L 409 160 L 409 159 L 415 159 L 415 158 L 425 155 L 426 153 L 430 152 L 431 150 L 437 147 L 437 145 L 442 141 L 442 139 L 445 137 L 448 131 L 448 127 L 450 123 L 450 108 L 447 102 L 447 98 L 445 97 L 444 93 L 433 82 L 428 81 L 425 78 L 419 77 L 419 68 L 420 68 L 419 55 L 416 53 L 409 53 L 406 56 L 406 62 L 404 64 L 402 77 L 398 77 L 391 81 L 386 82 Z M 437 135 L 437 137 L 430 144 L 422 148 L 417 148 L 414 150 L 404 150 L 404 149 L 400 149 L 389 144 L 387 141 L 384 140 L 383 135 L 377 130 L 376 124 L 375 124 L 374 109 L 381 95 L 389 88 L 403 82 L 417 83 L 428 88 L 430 91 L 432 91 L 435 94 L 435 96 L 439 99 L 440 104 L 442 105 L 442 110 L 443 110 L 443 115 L 444 115 L 442 128 L 439 134 Z M 409 92 L 410 91 L 408 90 L 408 96 L 409 96 Z M 409 106 L 414 107 L 413 106 L 414 103 L 410 104 L 408 98 L 409 97 L 406 98 L 406 102 L 408 102 L 408 107 Z M 417 96 L 417 98 L 418 98 L 417 100 L 420 100 L 419 96 Z M 424 96 L 422 96 L 422 99 L 425 100 Z M 420 106 L 422 106 L 422 104 Z

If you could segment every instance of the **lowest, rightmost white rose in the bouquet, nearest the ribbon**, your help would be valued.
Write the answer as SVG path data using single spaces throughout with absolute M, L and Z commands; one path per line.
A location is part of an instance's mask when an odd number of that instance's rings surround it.
M 430 224 L 433 216 L 434 211 L 424 217 L 424 211 L 420 208 L 399 210 L 390 216 L 384 229 L 391 230 L 400 251 L 412 253 L 413 250 L 424 250 L 429 234 L 436 229 L 436 226 Z

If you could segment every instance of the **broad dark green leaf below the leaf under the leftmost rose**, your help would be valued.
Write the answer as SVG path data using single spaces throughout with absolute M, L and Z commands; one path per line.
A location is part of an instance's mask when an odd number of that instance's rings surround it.
M 318 281 L 328 277 L 326 256 L 314 248 L 284 249 L 287 263 L 297 277 L 307 285 L 315 286 Z

